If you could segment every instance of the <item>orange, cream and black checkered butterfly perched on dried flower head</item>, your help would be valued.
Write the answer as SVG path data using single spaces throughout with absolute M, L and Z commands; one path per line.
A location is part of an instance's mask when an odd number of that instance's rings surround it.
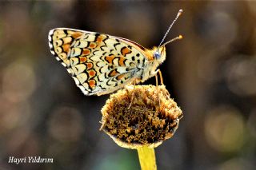
M 180 14 L 182 10 L 174 22 Z M 158 65 L 166 59 L 165 45 L 169 43 L 146 49 L 126 38 L 68 28 L 50 30 L 48 39 L 50 52 L 66 67 L 82 93 L 98 96 L 156 76 Z M 161 74 L 160 78 L 162 81 Z

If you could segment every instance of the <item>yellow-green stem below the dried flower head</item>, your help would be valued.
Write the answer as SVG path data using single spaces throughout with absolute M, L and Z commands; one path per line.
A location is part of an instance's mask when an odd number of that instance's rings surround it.
M 154 148 L 143 146 L 138 147 L 137 151 L 142 170 L 157 170 Z

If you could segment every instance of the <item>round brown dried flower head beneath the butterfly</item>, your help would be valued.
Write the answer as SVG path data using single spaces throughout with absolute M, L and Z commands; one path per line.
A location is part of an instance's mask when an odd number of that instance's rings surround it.
M 124 148 L 154 148 L 174 135 L 181 117 L 164 85 L 127 85 L 102 108 L 102 129 Z

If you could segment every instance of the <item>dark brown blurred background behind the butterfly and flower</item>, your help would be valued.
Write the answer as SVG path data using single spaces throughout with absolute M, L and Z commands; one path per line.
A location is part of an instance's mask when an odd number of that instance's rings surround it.
M 160 66 L 184 117 L 156 148 L 158 169 L 255 169 L 256 2 L 0 2 L 0 169 L 139 169 L 135 150 L 99 131 L 109 95 L 86 97 L 51 55 L 55 27 L 151 48 L 182 16 Z M 145 84 L 155 84 L 154 78 Z M 54 164 L 8 164 L 9 156 Z

